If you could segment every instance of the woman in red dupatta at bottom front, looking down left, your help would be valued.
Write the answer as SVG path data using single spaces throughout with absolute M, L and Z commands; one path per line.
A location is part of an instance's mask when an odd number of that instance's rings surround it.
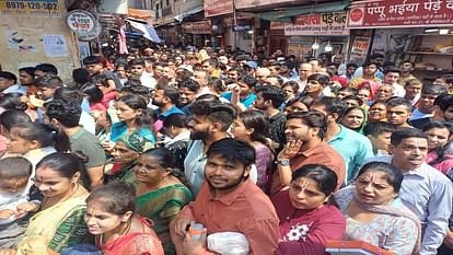
M 96 246 L 107 255 L 164 255 L 152 221 L 135 216 L 136 189 L 113 182 L 86 198 L 85 222 Z

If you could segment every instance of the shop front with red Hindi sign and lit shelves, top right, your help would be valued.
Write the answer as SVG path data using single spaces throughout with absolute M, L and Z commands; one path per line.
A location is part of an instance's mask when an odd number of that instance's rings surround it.
M 414 74 L 423 81 L 453 73 L 453 0 L 356 1 L 347 26 L 352 34 L 369 31 L 358 39 L 370 42 L 365 56 L 380 53 L 395 66 L 410 60 Z

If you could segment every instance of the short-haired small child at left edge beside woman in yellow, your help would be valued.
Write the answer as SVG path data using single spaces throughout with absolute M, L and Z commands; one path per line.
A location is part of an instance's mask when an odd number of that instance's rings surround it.
M 14 247 L 23 237 L 26 216 L 39 208 L 40 197 L 30 188 L 32 169 L 21 157 L 0 160 L 0 247 Z

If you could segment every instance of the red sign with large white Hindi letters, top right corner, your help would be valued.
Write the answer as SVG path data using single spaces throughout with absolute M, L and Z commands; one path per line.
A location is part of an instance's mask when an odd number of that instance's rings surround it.
M 453 0 L 367 0 L 348 11 L 348 28 L 409 26 L 453 26 Z

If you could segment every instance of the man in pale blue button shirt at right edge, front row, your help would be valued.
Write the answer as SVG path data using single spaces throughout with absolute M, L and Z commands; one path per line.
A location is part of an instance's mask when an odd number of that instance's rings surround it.
M 393 132 L 390 152 L 392 155 L 376 157 L 368 162 L 387 162 L 403 172 L 398 197 L 420 219 L 421 244 L 418 254 L 437 254 L 452 213 L 452 183 L 425 162 L 428 137 L 418 129 L 404 128 Z

